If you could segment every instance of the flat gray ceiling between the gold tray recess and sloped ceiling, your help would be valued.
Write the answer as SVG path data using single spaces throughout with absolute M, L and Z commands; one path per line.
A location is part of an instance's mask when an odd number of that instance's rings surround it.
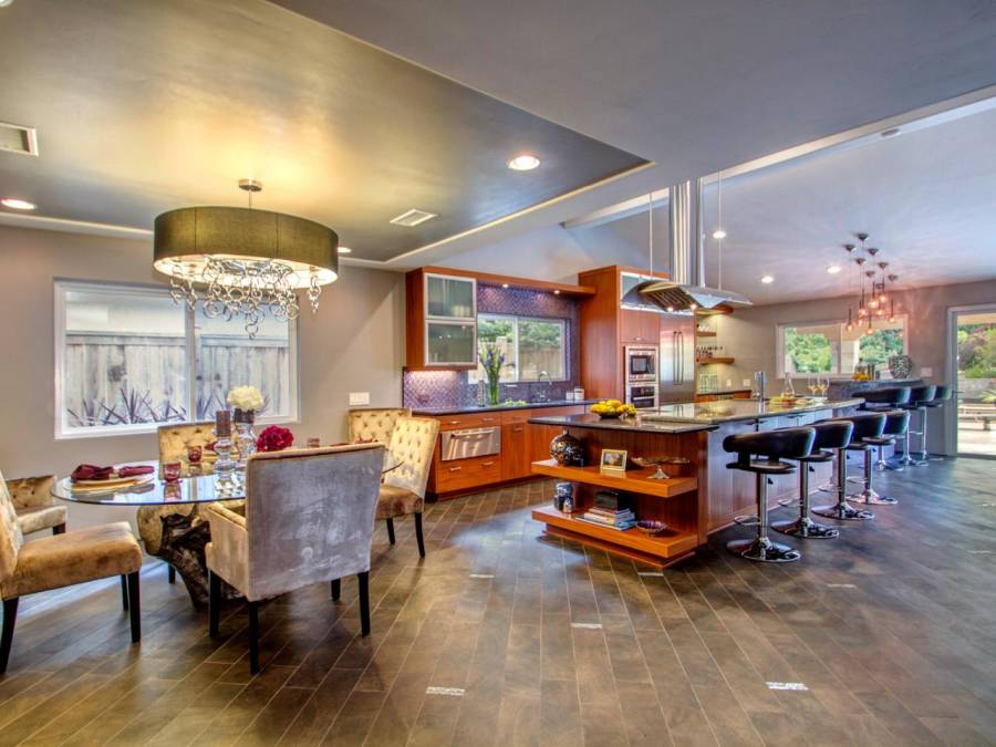
M 658 164 L 415 263 L 996 83 L 977 0 L 278 1 Z

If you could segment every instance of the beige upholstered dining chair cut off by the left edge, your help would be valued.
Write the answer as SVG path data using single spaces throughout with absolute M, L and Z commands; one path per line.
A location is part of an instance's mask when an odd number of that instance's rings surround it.
M 138 571 L 142 548 L 126 521 L 87 527 L 24 543 L 3 476 L 0 475 L 0 674 L 7 672 L 21 596 L 113 575 L 122 578 L 124 606 L 131 611 L 132 641 L 142 637 Z

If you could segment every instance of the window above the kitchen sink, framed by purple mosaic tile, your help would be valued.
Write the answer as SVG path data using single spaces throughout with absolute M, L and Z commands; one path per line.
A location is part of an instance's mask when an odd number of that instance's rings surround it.
M 494 343 L 505 354 L 502 382 L 535 382 L 542 372 L 552 381 L 567 381 L 566 340 L 567 322 L 562 319 L 477 317 L 478 346 Z M 470 376 L 471 382 L 479 378 L 485 378 L 480 365 Z

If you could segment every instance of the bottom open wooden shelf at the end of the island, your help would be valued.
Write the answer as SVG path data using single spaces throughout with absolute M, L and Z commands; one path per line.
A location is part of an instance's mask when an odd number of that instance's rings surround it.
M 688 554 L 698 546 L 698 536 L 689 530 L 667 529 L 657 537 L 649 537 L 635 528 L 618 531 L 584 521 L 577 518 L 578 516 L 563 513 L 552 506 L 532 509 L 532 518 L 544 522 L 547 530 L 553 535 L 594 544 L 653 564 L 667 564 Z

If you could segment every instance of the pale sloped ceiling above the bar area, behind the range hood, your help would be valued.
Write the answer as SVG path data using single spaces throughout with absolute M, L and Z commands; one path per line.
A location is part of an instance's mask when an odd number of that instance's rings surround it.
M 847 292 L 847 269 L 826 269 L 847 268 L 843 245 L 860 245 L 861 231 L 881 249 L 873 261 L 899 276 L 898 287 L 996 278 L 996 110 L 726 179 L 722 190 L 723 284 L 754 303 Z M 705 190 L 703 212 L 706 281 L 715 286 L 716 185 Z M 666 206 L 655 209 L 654 225 L 655 263 L 666 269 Z M 646 256 L 645 212 L 600 230 Z M 775 282 L 761 283 L 765 274 Z

